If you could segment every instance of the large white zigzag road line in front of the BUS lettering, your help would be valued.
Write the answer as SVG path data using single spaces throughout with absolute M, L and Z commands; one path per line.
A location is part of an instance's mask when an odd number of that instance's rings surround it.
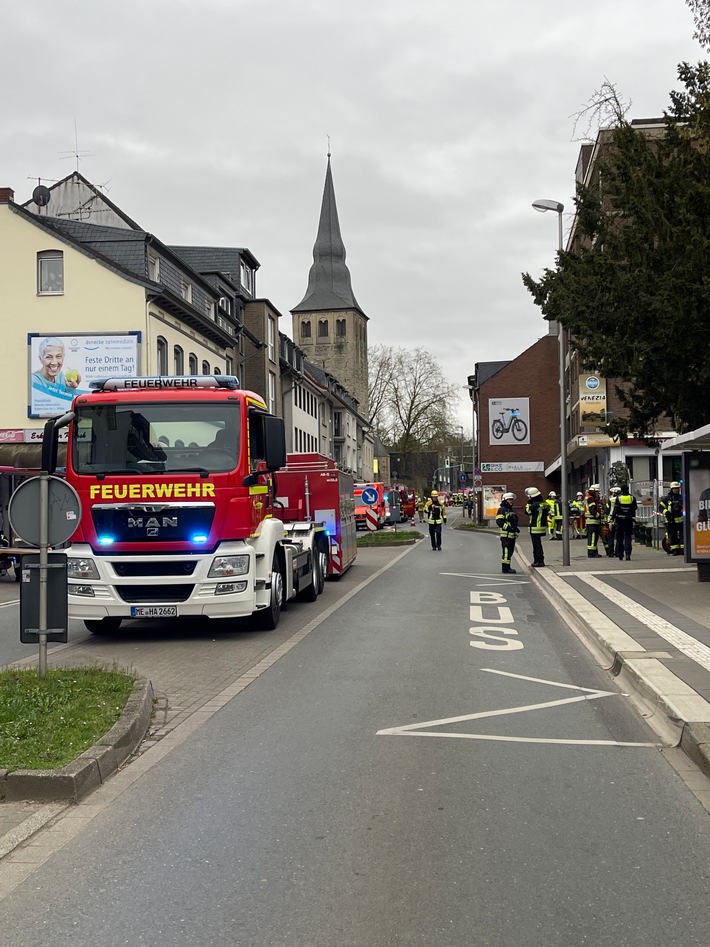
M 576 704 L 584 700 L 598 700 L 600 697 L 619 696 L 616 691 L 600 691 L 591 687 L 577 687 L 575 684 L 562 684 L 560 681 L 546 681 L 539 677 L 525 677 L 523 674 L 511 674 L 508 671 L 496 671 L 493 668 L 481 668 L 489 674 L 501 674 L 504 677 L 513 677 L 521 681 L 533 681 L 536 684 L 548 684 L 550 687 L 563 687 L 566 690 L 582 691 L 578 697 L 565 697 L 560 700 L 544 701 L 540 704 L 525 704 L 520 707 L 504 707 L 501 710 L 482 710 L 475 714 L 463 714 L 460 717 L 444 717 L 441 720 L 427 720 L 424 723 L 410 723 L 403 727 L 391 727 L 387 730 L 378 730 L 377 736 L 407 736 L 407 737 L 445 737 L 453 740 L 492 740 L 503 743 L 557 743 L 567 746 L 660 746 L 658 743 L 623 743 L 619 740 L 557 740 L 547 737 L 508 737 L 495 736 L 490 733 L 446 733 L 442 731 L 426 730 L 426 727 L 441 727 L 451 723 L 462 723 L 465 720 L 482 720 L 485 717 L 503 717 L 508 714 L 528 713 L 532 710 L 544 710 L 548 707 L 561 707 L 563 704 Z

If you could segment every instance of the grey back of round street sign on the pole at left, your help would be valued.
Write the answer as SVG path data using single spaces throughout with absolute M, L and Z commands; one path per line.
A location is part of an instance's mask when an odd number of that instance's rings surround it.
M 20 539 L 39 546 L 40 477 L 25 480 L 10 497 L 7 515 Z M 47 544 L 59 546 L 76 532 L 81 518 L 81 500 L 74 487 L 59 477 L 47 478 Z

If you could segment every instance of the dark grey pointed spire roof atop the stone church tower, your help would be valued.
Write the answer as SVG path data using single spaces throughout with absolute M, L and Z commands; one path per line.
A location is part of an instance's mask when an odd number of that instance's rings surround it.
M 353 295 L 350 271 L 345 265 L 345 245 L 340 236 L 335 189 L 330 170 L 330 142 L 328 169 L 325 175 L 318 235 L 313 246 L 313 265 L 308 274 L 308 289 L 292 312 L 357 309 L 362 312 Z

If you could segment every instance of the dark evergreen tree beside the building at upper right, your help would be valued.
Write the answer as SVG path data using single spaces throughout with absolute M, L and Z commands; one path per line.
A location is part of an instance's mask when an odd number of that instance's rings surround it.
M 557 269 L 523 282 L 569 331 L 583 370 L 617 387 L 628 418 L 611 434 L 710 421 L 710 65 L 682 64 L 684 90 L 658 132 L 623 117 L 598 173 L 578 187 L 575 242 Z

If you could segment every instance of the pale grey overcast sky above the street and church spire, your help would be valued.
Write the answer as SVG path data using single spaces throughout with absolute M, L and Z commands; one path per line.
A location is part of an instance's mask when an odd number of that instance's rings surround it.
M 683 0 L 15 0 L 3 7 L 0 186 L 76 167 L 168 244 L 248 247 L 257 292 L 304 296 L 330 135 L 369 342 L 474 363 L 547 331 L 520 274 L 554 264 L 604 79 L 659 116 L 703 58 Z

